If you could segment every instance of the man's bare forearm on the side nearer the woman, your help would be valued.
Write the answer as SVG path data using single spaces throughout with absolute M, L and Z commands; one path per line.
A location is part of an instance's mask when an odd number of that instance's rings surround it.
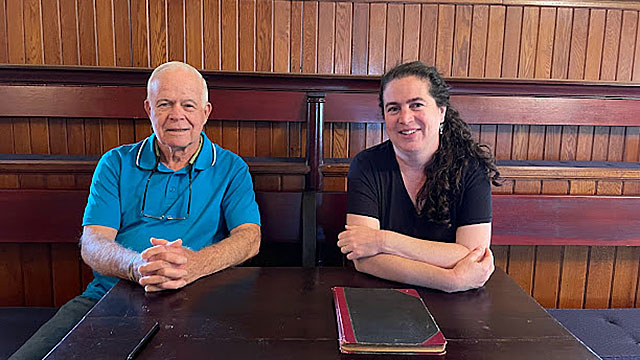
M 195 279 L 216 273 L 255 256 L 260 248 L 260 226 L 243 224 L 232 230 L 226 239 L 196 252 Z

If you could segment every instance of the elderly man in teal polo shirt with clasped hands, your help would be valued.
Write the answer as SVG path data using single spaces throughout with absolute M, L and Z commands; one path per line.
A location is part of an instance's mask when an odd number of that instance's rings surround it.
M 118 281 L 181 288 L 258 253 L 260 215 L 247 165 L 203 133 L 212 106 L 202 75 L 156 68 L 144 108 L 153 134 L 107 152 L 85 209 L 85 292 L 62 306 L 11 359 L 40 359 Z

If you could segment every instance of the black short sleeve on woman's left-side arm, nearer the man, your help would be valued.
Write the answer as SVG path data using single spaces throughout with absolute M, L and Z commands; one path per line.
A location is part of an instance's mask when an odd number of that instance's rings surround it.
M 377 188 L 370 164 L 356 156 L 347 174 L 347 214 L 380 219 Z

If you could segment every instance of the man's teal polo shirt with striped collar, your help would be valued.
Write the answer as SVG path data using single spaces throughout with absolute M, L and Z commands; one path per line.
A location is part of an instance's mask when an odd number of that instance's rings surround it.
M 118 230 L 115 241 L 136 252 L 151 247 L 150 238 L 199 250 L 229 236 L 242 224 L 260 225 L 247 164 L 202 134 L 202 148 L 192 165 L 173 171 L 157 161 L 155 134 L 102 156 L 91 181 L 82 225 Z M 191 171 L 191 194 L 189 194 Z M 144 214 L 142 203 L 145 193 Z M 189 206 L 189 197 L 191 205 Z M 184 220 L 168 220 L 166 217 Z M 83 296 L 100 299 L 117 278 L 96 271 Z

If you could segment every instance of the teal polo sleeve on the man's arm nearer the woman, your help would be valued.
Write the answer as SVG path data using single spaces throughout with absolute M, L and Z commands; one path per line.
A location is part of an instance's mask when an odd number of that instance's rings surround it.
M 260 212 L 249 167 L 244 161 L 237 159 L 232 171 L 234 174 L 222 199 L 222 211 L 228 230 L 248 223 L 260 225 Z

